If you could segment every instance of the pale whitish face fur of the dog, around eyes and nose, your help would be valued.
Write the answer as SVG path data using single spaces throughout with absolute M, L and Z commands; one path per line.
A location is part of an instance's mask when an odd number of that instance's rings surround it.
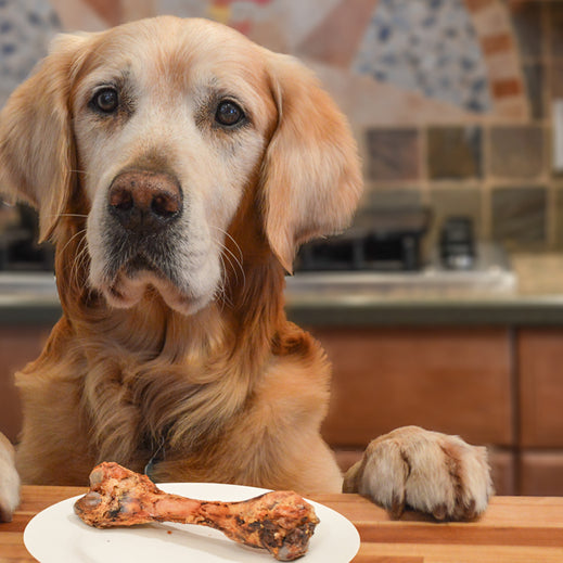
M 192 312 L 221 285 L 223 239 L 274 107 L 264 81 L 248 80 L 247 42 L 233 33 L 225 43 L 223 29 L 216 35 L 214 26 L 161 29 L 142 49 L 138 36 L 119 36 L 119 49 L 104 46 L 79 81 L 73 113 L 91 203 L 90 283 L 114 306 L 133 305 L 151 284 L 170 307 Z M 104 95 L 110 112 L 97 104 Z M 238 120 L 218 121 L 219 107 L 238 112 Z M 157 235 L 132 236 L 108 212 L 108 190 L 124 170 L 152 168 L 177 180 L 182 208 Z

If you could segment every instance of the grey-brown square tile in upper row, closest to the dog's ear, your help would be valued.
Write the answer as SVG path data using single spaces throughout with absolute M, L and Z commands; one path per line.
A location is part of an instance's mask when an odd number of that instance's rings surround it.
M 371 180 L 415 180 L 420 176 L 417 129 L 369 129 L 368 176 Z

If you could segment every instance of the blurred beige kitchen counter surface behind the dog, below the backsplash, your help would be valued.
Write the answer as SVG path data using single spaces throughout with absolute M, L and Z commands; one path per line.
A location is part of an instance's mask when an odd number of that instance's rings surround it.
M 418 283 L 304 289 L 296 277 L 287 280 L 286 308 L 303 325 L 563 327 L 563 255 L 520 255 L 512 266 L 517 286 L 508 291 Z M 0 274 L 0 324 L 52 324 L 60 315 L 52 274 Z

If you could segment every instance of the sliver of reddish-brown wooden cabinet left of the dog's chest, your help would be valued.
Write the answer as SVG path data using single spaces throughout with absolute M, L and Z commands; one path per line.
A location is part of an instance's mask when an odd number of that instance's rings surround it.
M 0 327 L 0 432 L 12 442 L 22 427 L 14 373 L 39 356 L 49 330 L 42 327 Z

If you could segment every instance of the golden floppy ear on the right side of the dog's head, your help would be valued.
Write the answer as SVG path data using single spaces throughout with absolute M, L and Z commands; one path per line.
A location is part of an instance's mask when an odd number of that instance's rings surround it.
M 265 230 L 291 272 L 300 243 L 348 225 L 362 181 L 346 118 L 314 74 L 279 54 L 271 57 L 269 73 L 278 126 L 261 172 Z

